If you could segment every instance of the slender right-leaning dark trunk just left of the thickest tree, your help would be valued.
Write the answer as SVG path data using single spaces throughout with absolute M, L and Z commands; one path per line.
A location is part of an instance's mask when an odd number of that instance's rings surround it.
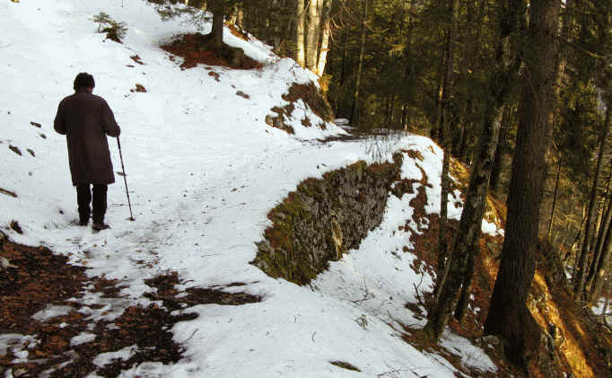
M 478 140 L 476 161 L 469 176 L 468 194 L 459 220 L 459 229 L 450 249 L 450 262 L 446 269 L 448 274 L 445 272 L 446 280 L 441 280 L 436 285 L 435 293 L 439 293 L 439 297 L 436 306 L 429 312 L 424 327 L 425 335 L 432 340 L 438 340 L 442 336 L 442 330 L 455 308 L 459 290 L 463 291 L 462 302 L 457 312 L 459 318 L 463 316 L 462 307 L 467 305 L 469 298 L 469 286 L 473 276 L 473 267 L 470 267 L 470 264 L 473 264 L 476 249 L 479 248 L 478 240 L 482 231 L 486 195 L 499 140 L 503 103 L 510 93 L 513 78 L 519 67 L 515 58 L 516 51 L 511 48 L 510 40 L 518 31 L 522 6 L 522 0 L 507 0 L 500 9 L 497 56 L 494 74 L 489 83 L 490 95 L 486 104 L 482 136 Z

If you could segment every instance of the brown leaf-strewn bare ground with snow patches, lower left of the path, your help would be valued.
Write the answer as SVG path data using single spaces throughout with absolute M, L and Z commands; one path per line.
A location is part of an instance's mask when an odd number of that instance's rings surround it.
M 5 356 L 0 356 L 0 376 L 10 369 L 15 377 L 36 377 L 50 369 L 51 377 L 90 373 L 116 377 L 122 370 L 144 361 L 177 362 L 184 349 L 172 340 L 170 330 L 179 321 L 197 318 L 197 314 L 184 311 L 173 315 L 170 312 L 201 303 L 238 305 L 261 301 L 258 296 L 198 287 L 188 289 L 186 296 L 177 298 L 181 293 L 174 286 L 180 280 L 176 272 L 170 272 L 146 281 L 152 292 L 145 296 L 162 301 L 162 306 L 154 303 L 148 307 L 132 305 L 114 321 L 93 321 L 80 311 L 87 310 L 85 307 L 101 309 L 102 306 L 79 303 L 78 298 L 83 297 L 86 286 L 92 285 L 94 289 L 90 291 L 105 298 L 119 299 L 120 289 L 125 284 L 104 277 L 88 277 L 87 268 L 71 265 L 66 257 L 43 247 L 32 248 L 13 242 L 4 242 L 0 247 L 0 256 L 17 267 L 8 268 L 0 275 L 0 335 L 30 335 L 37 340 L 22 348 L 29 353 L 25 362 L 16 359 L 14 348 L 9 347 Z M 33 314 L 49 304 L 67 306 L 71 310 L 47 321 L 32 319 Z M 82 332 L 93 333 L 95 338 L 71 346 L 71 338 Z M 134 345 L 136 353 L 127 361 L 113 360 L 102 367 L 93 364 L 93 359 L 101 353 Z

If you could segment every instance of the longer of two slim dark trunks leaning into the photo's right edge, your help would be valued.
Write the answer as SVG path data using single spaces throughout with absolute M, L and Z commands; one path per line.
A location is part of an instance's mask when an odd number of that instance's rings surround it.
M 593 185 L 590 189 L 589 210 L 587 212 L 587 223 L 584 229 L 584 242 L 582 243 L 582 251 L 580 254 L 580 259 L 578 261 L 578 268 L 573 277 L 573 294 L 574 298 L 577 300 L 580 300 L 582 294 L 584 294 L 586 276 L 589 273 L 590 268 L 589 259 L 591 252 L 591 243 L 595 235 L 597 218 L 597 189 L 599 187 L 599 177 L 601 176 L 603 166 L 602 159 L 603 154 L 606 150 L 606 141 L 608 140 L 608 129 L 610 124 L 609 108 L 606 113 L 608 114 L 606 116 L 606 124 L 604 125 L 604 127 L 602 127 L 601 135 L 599 136 L 599 153 L 597 157 L 597 165 L 595 166 L 595 177 L 593 178 Z

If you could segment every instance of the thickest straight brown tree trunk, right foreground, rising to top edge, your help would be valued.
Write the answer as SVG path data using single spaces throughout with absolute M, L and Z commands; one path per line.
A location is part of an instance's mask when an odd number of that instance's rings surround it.
M 506 356 L 524 364 L 534 320 L 525 301 L 533 280 L 546 146 L 555 106 L 555 52 L 559 0 L 531 0 L 519 129 L 508 195 L 502 262 L 495 280 L 485 333 L 505 338 Z M 526 327 L 527 326 L 527 327 Z

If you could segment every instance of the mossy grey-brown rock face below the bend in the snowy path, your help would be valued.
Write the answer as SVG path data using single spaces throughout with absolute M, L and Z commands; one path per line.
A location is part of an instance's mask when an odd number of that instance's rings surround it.
M 395 154 L 393 163 L 358 162 L 302 181 L 268 214 L 272 226 L 251 263 L 271 277 L 308 284 L 380 224 L 402 160 Z

